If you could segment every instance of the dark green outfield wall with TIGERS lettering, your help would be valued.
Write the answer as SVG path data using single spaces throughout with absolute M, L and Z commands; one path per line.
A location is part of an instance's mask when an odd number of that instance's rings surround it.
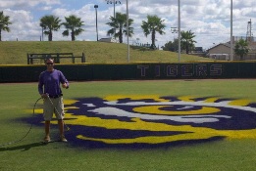
M 45 65 L 0 65 L 0 82 L 34 82 Z M 56 64 L 70 81 L 254 78 L 256 63 Z

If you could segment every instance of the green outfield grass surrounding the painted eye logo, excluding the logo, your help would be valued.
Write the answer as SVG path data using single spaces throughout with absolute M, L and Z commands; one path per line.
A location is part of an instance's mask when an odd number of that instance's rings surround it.
M 110 95 L 194 96 L 256 102 L 254 79 L 72 82 L 65 100 Z M 36 83 L 0 84 L 0 145 L 19 140 L 30 127 L 39 98 Z M 36 107 L 41 107 L 39 101 Z M 256 123 L 255 123 L 256 124 Z M 53 129 L 53 133 L 58 130 Z M 233 171 L 255 170 L 256 140 L 220 140 L 157 148 L 84 148 L 70 143 L 40 143 L 43 127 L 33 126 L 26 139 L 0 148 L 0 170 L 89 171 Z

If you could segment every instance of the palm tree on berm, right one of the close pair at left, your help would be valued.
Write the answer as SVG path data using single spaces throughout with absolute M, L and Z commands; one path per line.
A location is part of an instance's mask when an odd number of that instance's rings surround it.
M 77 18 L 74 15 L 69 16 L 68 18 L 65 17 L 66 22 L 63 22 L 62 24 L 66 27 L 66 30 L 63 31 L 63 36 L 69 36 L 70 30 L 71 30 L 71 37 L 72 41 L 76 40 L 76 36 L 79 35 L 84 29 L 81 28 L 83 24 L 83 21 L 80 21 L 80 18 Z

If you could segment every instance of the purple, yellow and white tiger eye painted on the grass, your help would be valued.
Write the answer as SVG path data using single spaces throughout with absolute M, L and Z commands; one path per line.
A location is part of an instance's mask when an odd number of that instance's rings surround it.
M 65 101 L 70 142 L 161 146 L 256 138 L 256 104 L 195 97 L 108 96 Z M 57 124 L 57 122 L 54 122 Z

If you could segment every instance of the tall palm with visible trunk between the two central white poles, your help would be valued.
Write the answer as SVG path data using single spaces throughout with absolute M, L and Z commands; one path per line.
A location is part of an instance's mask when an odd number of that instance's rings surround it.
M 147 37 L 149 34 L 151 34 L 151 49 L 155 49 L 155 41 L 156 41 L 156 33 L 158 32 L 159 34 L 165 34 L 163 31 L 166 27 L 166 25 L 163 23 L 164 20 L 161 20 L 157 16 L 147 16 L 147 21 L 142 21 L 142 29 L 144 31 L 145 36 Z

